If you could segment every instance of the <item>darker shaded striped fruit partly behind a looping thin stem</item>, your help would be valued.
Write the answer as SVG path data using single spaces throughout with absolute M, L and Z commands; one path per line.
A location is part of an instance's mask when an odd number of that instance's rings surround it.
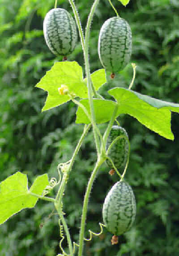
M 110 152 L 108 153 L 108 157 L 111 158 L 115 167 L 118 170 L 124 171 L 124 168 L 128 161 L 129 142 L 128 142 L 128 134 L 123 127 L 112 126 L 111 132 L 107 139 L 106 150 L 109 148 L 112 141 L 120 135 L 123 135 L 124 137 L 123 138 L 121 137 L 115 141 L 115 143 L 111 147 Z M 113 168 L 109 159 L 107 159 L 106 162 L 110 168 Z

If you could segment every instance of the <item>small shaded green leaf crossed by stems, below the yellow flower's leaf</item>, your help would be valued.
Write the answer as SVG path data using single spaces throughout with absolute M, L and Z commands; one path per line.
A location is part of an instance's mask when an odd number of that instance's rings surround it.
M 90 105 L 88 99 L 81 99 L 80 103 L 85 106 L 87 111 L 90 113 Z M 117 105 L 112 100 L 107 99 L 94 99 L 94 112 L 96 116 L 96 121 L 98 124 L 105 123 L 111 119 L 112 113 L 114 112 L 115 106 Z M 90 120 L 83 112 L 82 108 L 78 107 L 77 109 L 77 118 L 76 123 L 90 123 Z

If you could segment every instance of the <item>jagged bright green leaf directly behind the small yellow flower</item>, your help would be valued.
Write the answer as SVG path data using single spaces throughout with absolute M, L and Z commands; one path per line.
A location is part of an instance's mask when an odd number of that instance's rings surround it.
M 69 92 L 76 94 L 77 97 L 88 97 L 87 87 L 83 81 L 82 67 L 76 61 L 56 62 L 36 85 L 48 92 L 42 111 L 57 107 L 70 100 L 68 95 L 59 94 L 58 88 L 61 85 L 67 85 Z

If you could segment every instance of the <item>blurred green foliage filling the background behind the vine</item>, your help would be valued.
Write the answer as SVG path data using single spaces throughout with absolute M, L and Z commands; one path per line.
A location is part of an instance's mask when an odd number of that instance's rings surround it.
M 93 0 L 77 0 L 83 27 Z M 119 15 L 132 28 L 132 62 L 136 63 L 133 90 L 179 103 L 179 2 L 177 0 L 131 0 L 123 7 L 113 1 Z M 0 181 L 16 171 L 29 177 L 48 173 L 57 177 L 57 164 L 67 161 L 83 126 L 75 125 L 76 107 L 67 103 L 41 113 L 46 99 L 34 88 L 55 58 L 43 38 L 43 18 L 54 1 L 4 0 L 0 3 Z M 71 11 L 68 1 L 58 7 Z M 101 0 L 90 38 L 91 72 L 101 68 L 98 33 L 103 22 L 115 16 L 107 0 Z M 84 67 L 81 45 L 69 60 Z M 127 87 L 132 67 L 102 88 Z M 109 95 L 107 96 L 109 97 Z M 119 119 L 128 131 L 131 156 L 126 180 L 136 195 L 137 215 L 133 228 L 111 246 L 111 234 L 85 243 L 84 256 L 178 256 L 179 255 L 179 115 L 172 114 L 174 142 L 151 132 L 129 116 Z M 101 125 L 104 130 L 106 124 Z M 73 239 L 77 241 L 85 186 L 96 160 L 90 133 L 82 145 L 64 196 L 64 211 Z M 102 203 L 118 177 L 102 166 L 90 197 L 87 230 L 99 231 Z M 51 194 L 53 196 L 53 193 Z M 0 226 L 1 256 L 55 256 L 60 253 L 59 227 L 51 203 L 38 202 Z M 86 233 L 86 237 L 88 233 Z M 64 247 L 66 246 L 64 242 Z

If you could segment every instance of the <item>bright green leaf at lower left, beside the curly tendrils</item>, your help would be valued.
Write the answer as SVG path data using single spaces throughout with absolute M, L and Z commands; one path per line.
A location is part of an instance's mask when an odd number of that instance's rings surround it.
M 47 174 L 38 176 L 28 189 L 27 175 L 21 172 L 9 176 L 0 183 L 0 224 L 24 208 L 33 208 L 38 198 L 30 192 L 41 195 L 49 184 Z

